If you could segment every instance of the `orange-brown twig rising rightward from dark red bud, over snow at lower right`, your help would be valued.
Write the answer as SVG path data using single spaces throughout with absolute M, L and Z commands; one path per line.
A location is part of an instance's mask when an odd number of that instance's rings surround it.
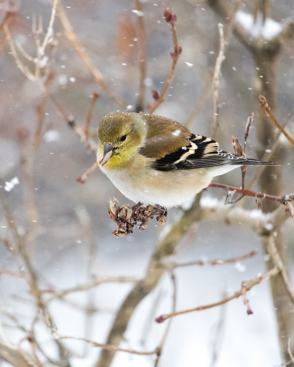
M 263 273 L 262 275 L 258 276 L 255 279 L 244 281 L 242 283 L 241 289 L 239 291 L 236 291 L 232 296 L 223 298 L 219 302 L 214 302 L 212 304 L 208 304 L 208 305 L 204 305 L 204 306 L 198 306 L 198 307 L 195 307 L 195 308 L 191 308 L 189 310 L 183 310 L 183 311 L 169 313 L 169 314 L 166 314 L 166 315 L 161 315 L 161 316 L 157 317 L 157 319 L 155 319 L 155 320 L 158 323 L 162 323 L 165 320 L 169 319 L 170 317 L 174 317 L 174 316 L 178 316 L 178 315 L 183 315 L 184 313 L 189 313 L 189 312 L 194 312 L 194 311 L 207 310 L 209 308 L 213 308 L 213 307 L 216 307 L 216 306 L 223 305 L 223 304 L 225 304 L 225 303 L 227 303 L 229 301 L 232 301 L 232 299 L 234 299 L 234 298 L 239 298 L 240 296 L 244 295 L 244 292 L 249 291 L 252 287 L 254 287 L 257 284 L 261 283 L 261 281 L 263 279 L 266 279 L 266 278 L 271 277 L 271 276 L 275 276 L 279 272 L 280 272 L 280 269 L 279 268 L 273 268 L 273 269 L 269 270 L 268 272 Z

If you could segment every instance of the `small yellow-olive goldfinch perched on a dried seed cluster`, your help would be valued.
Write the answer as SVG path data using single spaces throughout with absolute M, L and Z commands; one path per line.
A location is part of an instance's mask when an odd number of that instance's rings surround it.
M 144 205 L 179 206 L 215 176 L 247 164 L 266 164 L 219 149 L 166 117 L 112 112 L 98 126 L 97 161 L 128 199 Z

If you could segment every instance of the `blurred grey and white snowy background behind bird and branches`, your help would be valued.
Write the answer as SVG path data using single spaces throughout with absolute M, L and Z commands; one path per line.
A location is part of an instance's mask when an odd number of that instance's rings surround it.
M 169 53 L 173 51 L 172 36 L 163 18 L 164 9 L 169 7 L 177 15 L 176 29 L 183 51 L 176 65 L 172 86 L 155 113 L 185 123 L 196 103 L 205 96 L 197 116 L 190 119 L 190 129 L 197 134 L 211 136 L 213 99 L 212 87 L 208 83 L 211 83 L 211 73 L 219 52 L 217 25 L 223 22 L 226 30 L 228 19 L 212 10 L 206 1 L 154 1 L 141 0 L 147 50 L 145 111 L 154 102 L 152 90 L 161 91 L 171 67 Z M 223 2 L 231 6 L 231 1 Z M 58 3 L 62 5 L 73 32 L 93 65 L 100 70 L 115 94 L 125 101 L 128 109 L 135 109 L 140 75 L 137 37 L 139 16 L 137 11 L 134 12 L 134 1 L 62 0 Z M 268 3 L 275 22 L 283 24 L 288 17 L 293 18 L 293 2 L 274 0 Z M 112 231 L 116 229 L 115 224 L 107 213 L 109 200 L 113 196 L 121 204 L 128 203 L 128 200 L 100 170 L 94 171 L 84 185 L 75 181 L 92 166 L 95 156 L 68 127 L 67 121 L 50 99 L 44 106 L 41 140 L 35 144 L 36 127 L 40 126 L 40 110 L 37 106 L 44 95 L 40 84 L 46 75 L 40 75 L 38 81 L 29 80 L 15 62 L 6 38 L 10 33 L 14 45 L 18 45 L 15 47 L 21 63 L 33 72 L 33 59 L 37 54 L 36 32 L 34 34 L 32 31 L 32 24 L 35 21 L 38 23 L 41 17 L 46 33 L 51 10 L 50 1 L 46 0 L 1 3 L 0 266 L 20 273 L 28 266 L 28 263 L 22 264 L 23 260 L 7 245 L 15 240 L 13 228 L 7 223 L 7 207 L 17 233 L 25 236 L 26 253 L 37 274 L 39 288 L 49 290 L 43 292 L 41 297 L 47 302 L 58 334 L 104 343 L 119 306 L 133 287 L 134 279 L 144 277 L 159 236 L 164 236 L 163 232 L 171 228 L 182 209 L 170 210 L 164 226 L 153 220 L 143 232 L 135 229 L 132 235 L 114 237 Z M 240 3 L 240 10 L 251 14 L 254 2 Z M 7 18 L 9 11 L 12 16 Z M 43 60 L 46 63 L 45 73 L 49 70 L 54 73 L 50 93 L 67 115 L 74 116 L 76 123 L 83 126 L 92 94 L 99 92 L 100 98 L 91 121 L 91 127 L 95 130 L 103 116 L 123 108 L 95 82 L 66 37 L 57 15 L 53 29 L 54 41 L 45 52 L 48 61 Z M 39 38 L 42 42 L 44 36 L 41 34 Z M 294 107 L 293 46 L 291 40 L 284 42 L 274 60 L 276 81 L 273 80 L 270 87 L 275 95 L 275 115 L 281 124 L 286 122 Z M 31 61 L 25 58 L 22 49 L 31 56 Z M 252 52 L 234 34 L 227 40 L 225 57 L 219 77 L 218 141 L 221 148 L 227 151 L 232 151 L 231 135 L 243 143 L 247 117 L 254 112 L 247 154 L 256 158 L 257 150 L 260 149 L 257 126 L 262 113 L 256 94 L 257 65 Z M 293 121 L 290 120 L 287 129 L 293 136 Z M 294 191 L 294 148 L 280 138 L 276 155 L 282 161 L 280 194 L 291 193 Z M 254 170 L 248 168 L 245 183 L 250 181 Z M 217 181 L 240 186 L 241 172 L 235 170 L 219 177 Z M 6 182 L 10 182 L 10 185 L 7 186 Z M 261 190 L 257 183 L 253 189 Z M 209 188 L 202 199 L 222 200 L 222 196 L 223 190 Z M 243 205 L 257 210 L 254 198 L 245 199 Z M 293 270 L 293 219 L 288 219 L 281 230 L 290 270 Z M 257 251 L 255 257 L 235 264 L 177 268 L 176 309 L 205 305 L 232 294 L 240 289 L 243 280 L 265 272 L 268 260 L 261 240 L 250 230 L 227 226 L 220 221 L 195 223 L 171 258 L 172 261 L 226 259 L 252 250 Z M 11 275 L 0 272 L 0 339 L 20 345 L 29 355 L 33 355 L 34 349 L 27 336 L 29 331 L 34 330 L 34 337 L 41 349 L 36 348 L 36 354 L 43 366 L 53 366 L 54 362 L 60 366 L 96 366 L 100 348 L 69 339 L 62 341 L 69 351 L 67 364 L 61 363 L 48 325 L 42 320 L 35 320 L 35 299 L 28 283 L 22 276 Z M 50 300 L 50 290 L 54 294 L 53 290 L 89 284 L 96 276 L 126 279 L 123 283 L 103 283 L 87 290 L 70 292 L 62 299 Z M 155 290 L 136 308 L 120 346 L 153 350 L 158 345 L 166 324 L 157 324 L 154 318 L 171 312 L 172 292 L 171 279 L 166 273 Z M 269 281 L 263 281 L 248 292 L 247 298 L 254 312 L 250 316 L 246 313 L 242 299 L 237 299 L 219 308 L 175 317 L 159 366 L 265 367 L 283 363 Z M 286 338 L 287 335 L 280 337 Z M 3 358 L 3 353 L 1 355 Z M 1 366 L 13 364 L 4 359 L 0 361 Z M 147 367 L 154 366 L 154 360 L 154 355 L 118 352 L 111 366 Z M 25 364 L 19 361 L 19 366 Z

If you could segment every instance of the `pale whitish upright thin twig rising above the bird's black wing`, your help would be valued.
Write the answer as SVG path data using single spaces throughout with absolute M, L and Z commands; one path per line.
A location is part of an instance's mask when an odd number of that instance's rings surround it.
M 219 87 L 219 74 L 221 73 L 222 63 L 225 60 L 225 39 L 223 36 L 223 25 L 218 23 L 219 29 L 219 54 L 216 58 L 214 76 L 212 78 L 212 89 L 213 89 L 213 100 L 214 100 L 214 116 L 212 126 L 212 139 L 216 139 L 216 134 L 219 128 L 219 98 L 218 98 L 218 87 Z

